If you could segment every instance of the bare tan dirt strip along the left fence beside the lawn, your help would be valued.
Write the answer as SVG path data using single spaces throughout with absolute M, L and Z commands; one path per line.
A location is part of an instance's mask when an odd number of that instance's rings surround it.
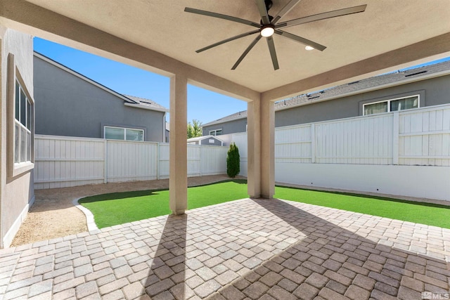
M 203 185 L 229 179 L 226 175 L 188 178 L 188 186 Z M 131 190 L 158 190 L 169 188 L 169 179 L 82 185 L 72 188 L 35 190 L 35 202 L 15 235 L 11 247 L 49 240 L 87 231 L 86 217 L 72 200 L 79 197 Z

